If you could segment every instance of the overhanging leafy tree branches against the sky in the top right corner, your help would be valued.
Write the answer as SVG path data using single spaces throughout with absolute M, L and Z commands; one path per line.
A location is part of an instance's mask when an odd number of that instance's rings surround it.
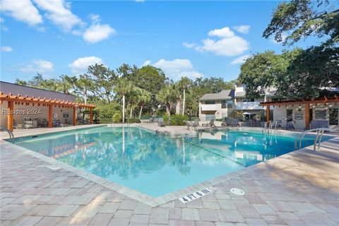
M 333 9 L 333 11 L 327 11 L 328 9 Z M 287 37 L 284 39 L 285 35 Z M 292 0 L 283 2 L 275 10 L 270 24 L 263 32 L 263 37 L 274 36 L 277 42 L 283 42 L 283 44 L 294 44 L 310 35 L 328 37 L 324 42 L 326 45 L 339 42 L 338 1 Z

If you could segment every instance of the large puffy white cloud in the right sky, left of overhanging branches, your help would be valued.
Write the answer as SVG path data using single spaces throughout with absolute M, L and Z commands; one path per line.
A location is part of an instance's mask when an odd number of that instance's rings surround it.
M 185 47 L 194 48 L 199 52 L 212 52 L 217 56 L 232 57 L 242 54 L 249 49 L 249 42 L 244 38 L 234 35 L 230 28 L 210 30 L 209 36 L 218 37 L 217 39 L 207 38 L 201 45 L 186 43 Z

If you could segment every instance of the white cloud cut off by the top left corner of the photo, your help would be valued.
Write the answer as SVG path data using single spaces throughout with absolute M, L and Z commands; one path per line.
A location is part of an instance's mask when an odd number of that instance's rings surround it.
M 30 0 L 2 0 L 0 11 L 30 26 L 42 23 L 42 16 Z

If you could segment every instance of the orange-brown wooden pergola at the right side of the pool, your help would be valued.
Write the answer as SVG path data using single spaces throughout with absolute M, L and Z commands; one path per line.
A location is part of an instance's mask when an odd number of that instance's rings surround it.
M 305 127 L 309 129 L 309 105 L 318 105 L 327 103 L 337 103 L 339 102 L 339 98 L 337 95 L 334 95 L 333 98 L 323 97 L 315 100 L 285 100 L 285 101 L 272 101 L 272 102 L 261 102 L 260 105 L 266 107 L 266 121 L 270 121 L 270 106 L 278 106 L 281 105 L 305 105 Z

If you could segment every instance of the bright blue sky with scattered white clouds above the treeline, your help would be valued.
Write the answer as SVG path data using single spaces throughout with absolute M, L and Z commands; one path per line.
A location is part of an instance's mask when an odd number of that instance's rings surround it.
M 278 1 L 1 1 L 1 81 L 151 64 L 169 78 L 237 78 L 242 59 L 283 45 L 261 37 Z M 27 15 L 25 15 L 27 13 Z M 302 40 L 295 46 L 316 44 Z

